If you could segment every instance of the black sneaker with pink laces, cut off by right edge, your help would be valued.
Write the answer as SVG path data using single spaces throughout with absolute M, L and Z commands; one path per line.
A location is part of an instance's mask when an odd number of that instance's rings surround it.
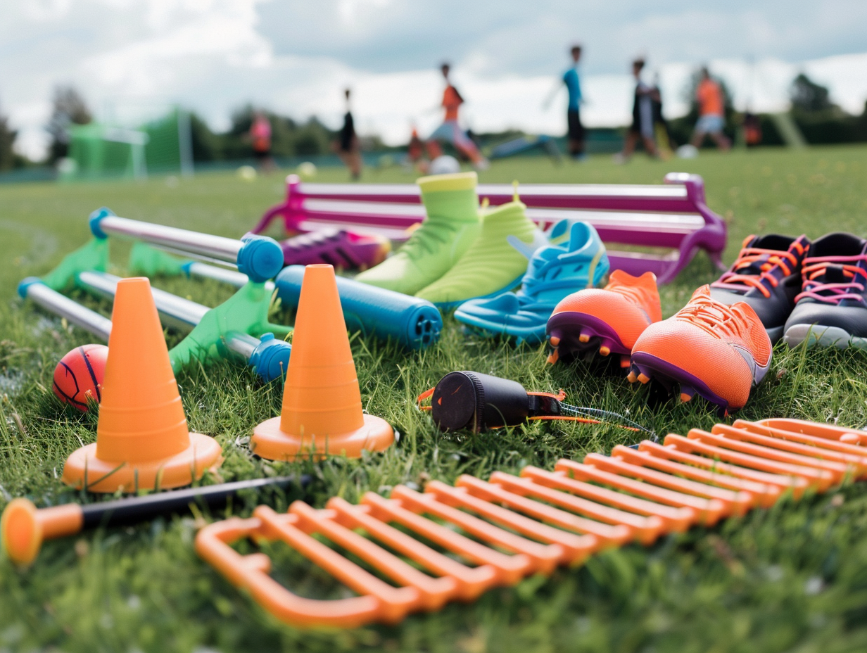
M 811 245 L 802 272 L 786 344 L 867 349 L 867 240 L 829 233 Z

